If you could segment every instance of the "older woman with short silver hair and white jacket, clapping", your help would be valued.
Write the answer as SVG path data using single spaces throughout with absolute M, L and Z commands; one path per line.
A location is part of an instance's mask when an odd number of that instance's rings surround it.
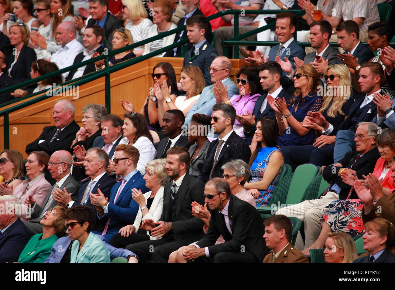
M 110 245 L 117 248 L 125 248 L 127 245 L 156 239 L 150 236 L 150 232 L 140 229 L 141 222 L 149 219 L 156 222 L 162 215 L 163 191 L 165 185 L 170 181 L 167 176 L 166 159 L 155 159 L 147 163 L 145 167 L 145 186 L 150 189 L 143 195 L 141 190 L 132 189 L 132 198 L 139 205 L 133 225 L 124 226 L 111 238 Z

